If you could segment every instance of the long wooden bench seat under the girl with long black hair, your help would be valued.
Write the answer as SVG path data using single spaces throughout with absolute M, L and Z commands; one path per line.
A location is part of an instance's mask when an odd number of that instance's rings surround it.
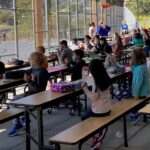
M 121 101 L 113 105 L 112 112 L 109 116 L 101 118 L 91 117 L 57 134 L 56 136 L 50 138 L 49 141 L 60 144 L 77 144 L 79 141 L 95 132 L 96 130 L 109 125 L 109 123 L 115 121 L 118 117 L 127 113 L 141 102 L 141 100 Z

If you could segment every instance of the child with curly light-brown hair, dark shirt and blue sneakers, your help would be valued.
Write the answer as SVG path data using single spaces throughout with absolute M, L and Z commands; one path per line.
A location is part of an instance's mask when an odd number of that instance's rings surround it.
M 24 72 L 24 80 L 28 83 L 28 91 L 25 92 L 22 95 L 22 97 L 45 91 L 47 81 L 48 81 L 48 72 L 43 67 L 44 64 L 43 55 L 38 52 L 34 52 L 31 54 L 29 61 L 32 68 Z M 20 71 L 15 71 L 13 72 L 13 75 L 18 74 L 19 72 Z M 9 77 L 10 75 L 11 74 L 9 73 Z M 7 78 L 7 73 L 6 73 L 6 78 Z M 17 97 L 15 99 L 17 99 Z M 14 120 L 12 129 L 8 133 L 8 136 L 13 137 L 17 135 L 17 133 L 23 128 L 24 125 L 25 125 L 24 117 L 16 118 Z

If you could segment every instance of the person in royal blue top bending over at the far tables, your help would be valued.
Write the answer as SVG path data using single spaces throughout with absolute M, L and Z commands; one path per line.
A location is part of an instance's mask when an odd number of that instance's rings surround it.
M 99 22 L 99 26 L 97 28 L 97 34 L 99 36 L 107 37 L 110 30 L 111 30 L 110 26 L 104 24 L 103 22 Z

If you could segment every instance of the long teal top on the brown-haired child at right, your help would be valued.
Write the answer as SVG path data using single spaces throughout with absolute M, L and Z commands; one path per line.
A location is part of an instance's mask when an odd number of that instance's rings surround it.
M 135 97 L 150 94 L 149 73 L 147 64 L 132 66 L 132 95 Z

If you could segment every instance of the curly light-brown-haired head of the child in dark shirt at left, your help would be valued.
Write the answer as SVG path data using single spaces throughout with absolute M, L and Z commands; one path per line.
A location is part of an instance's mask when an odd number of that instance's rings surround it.
M 45 59 L 43 54 L 40 54 L 39 52 L 33 52 L 30 55 L 29 61 L 33 67 L 38 68 L 44 65 Z

